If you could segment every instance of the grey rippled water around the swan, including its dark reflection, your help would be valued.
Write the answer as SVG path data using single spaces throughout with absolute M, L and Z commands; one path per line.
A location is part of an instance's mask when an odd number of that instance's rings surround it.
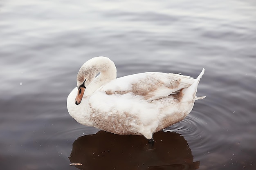
M 253 0 L 1 1 L 1 169 L 254 170 L 255 18 Z M 197 94 L 207 97 L 156 133 L 154 150 L 143 137 L 82 126 L 66 97 L 100 55 L 117 77 L 205 68 Z

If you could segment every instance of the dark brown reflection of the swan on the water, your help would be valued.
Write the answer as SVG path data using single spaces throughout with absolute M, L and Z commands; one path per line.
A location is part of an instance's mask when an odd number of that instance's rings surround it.
M 83 170 L 195 170 L 187 141 L 175 132 L 157 132 L 149 149 L 143 136 L 115 135 L 99 131 L 79 137 L 73 143 L 71 163 Z

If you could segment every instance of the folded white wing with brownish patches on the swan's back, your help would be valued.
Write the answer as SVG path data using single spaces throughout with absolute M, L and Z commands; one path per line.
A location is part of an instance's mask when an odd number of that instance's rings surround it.
M 152 101 L 175 94 L 193 82 L 195 79 L 185 75 L 147 72 L 114 79 L 101 86 L 99 91 L 105 91 L 107 95 L 133 93 Z

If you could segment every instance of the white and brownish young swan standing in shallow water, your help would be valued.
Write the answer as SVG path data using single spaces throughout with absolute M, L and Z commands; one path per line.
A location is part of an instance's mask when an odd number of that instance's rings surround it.
M 98 76 L 96 76 L 100 73 Z M 184 119 L 192 110 L 198 83 L 204 74 L 192 77 L 146 72 L 117 77 L 108 57 L 85 62 L 67 97 L 68 113 L 77 122 L 119 135 L 143 135 L 153 142 L 153 133 Z

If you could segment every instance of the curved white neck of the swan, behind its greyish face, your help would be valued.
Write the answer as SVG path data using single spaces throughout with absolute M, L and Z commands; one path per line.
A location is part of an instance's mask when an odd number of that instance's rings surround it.
M 100 74 L 95 77 L 92 82 L 86 87 L 84 97 L 91 95 L 94 91 L 100 88 L 103 84 L 110 82 L 117 78 L 117 68 L 109 58 L 107 57 L 96 57 L 100 60 L 96 61 L 94 64 L 94 77 L 97 73 Z

